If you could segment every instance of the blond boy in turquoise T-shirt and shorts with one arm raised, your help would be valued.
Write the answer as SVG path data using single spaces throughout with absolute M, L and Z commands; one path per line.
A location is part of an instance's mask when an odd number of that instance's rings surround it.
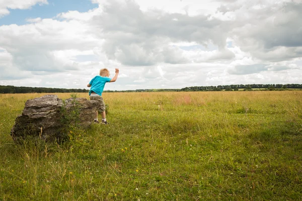
M 109 75 L 110 75 L 109 70 L 107 68 L 103 68 L 100 70 L 100 75 L 95 76 L 89 82 L 89 84 L 87 84 L 88 87 L 91 87 L 90 91 L 89 91 L 90 100 L 98 100 L 98 102 L 100 103 L 99 110 L 102 115 L 102 122 L 101 122 L 102 124 L 108 124 L 108 122 L 106 121 L 105 104 L 104 104 L 104 100 L 102 98 L 102 92 L 104 90 L 104 86 L 105 86 L 106 82 L 115 82 L 116 81 L 118 73 L 119 73 L 119 69 L 115 68 L 115 75 L 111 79 L 111 78 L 109 78 Z M 94 122 L 99 123 L 98 111 L 96 112 Z

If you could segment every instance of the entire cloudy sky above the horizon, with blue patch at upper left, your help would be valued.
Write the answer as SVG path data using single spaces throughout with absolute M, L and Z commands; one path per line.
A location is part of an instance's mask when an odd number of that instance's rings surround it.
M 0 0 L 0 85 L 302 83 L 302 0 Z

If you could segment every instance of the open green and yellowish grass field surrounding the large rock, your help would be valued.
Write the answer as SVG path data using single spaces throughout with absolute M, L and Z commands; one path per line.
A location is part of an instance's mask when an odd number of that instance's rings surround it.
M 302 91 L 104 93 L 110 125 L 15 144 L 42 95 L 0 94 L 0 200 L 301 200 Z

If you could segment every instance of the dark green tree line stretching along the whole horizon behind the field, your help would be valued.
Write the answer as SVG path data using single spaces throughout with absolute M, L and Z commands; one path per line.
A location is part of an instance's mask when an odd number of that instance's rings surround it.
M 301 89 L 302 84 L 232 84 L 218 86 L 190 86 L 181 89 L 135 89 L 135 90 L 105 90 L 104 92 L 160 92 L 160 91 L 236 91 L 244 90 L 286 90 Z M 0 93 L 82 93 L 89 92 L 89 89 L 79 88 L 50 88 L 50 87 L 29 87 L 29 86 L 11 86 L 0 85 Z

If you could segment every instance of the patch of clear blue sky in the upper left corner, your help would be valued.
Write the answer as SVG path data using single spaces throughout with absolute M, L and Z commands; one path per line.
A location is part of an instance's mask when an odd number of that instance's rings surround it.
M 53 18 L 59 13 L 68 11 L 87 12 L 98 8 L 97 4 L 92 4 L 90 0 L 48 0 L 47 4 L 36 4 L 27 10 L 9 9 L 10 14 L 0 18 L 1 25 L 24 25 L 28 24 L 26 19 L 34 18 Z

